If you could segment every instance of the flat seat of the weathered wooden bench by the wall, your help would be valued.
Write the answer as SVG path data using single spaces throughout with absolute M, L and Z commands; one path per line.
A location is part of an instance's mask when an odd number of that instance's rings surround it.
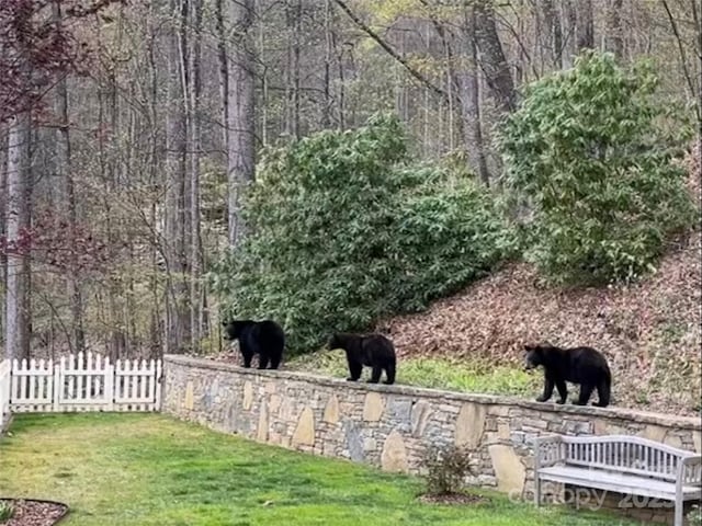
M 624 494 L 666 500 L 675 500 L 676 496 L 675 482 L 602 470 L 576 468 L 574 466 L 551 466 L 548 468 L 542 468 L 539 470 L 539 476 L 542 480 L 609 490 Z M 682 498 L 686 501 L 702 499 L 702 489 L 694 485 L 683 485 Z

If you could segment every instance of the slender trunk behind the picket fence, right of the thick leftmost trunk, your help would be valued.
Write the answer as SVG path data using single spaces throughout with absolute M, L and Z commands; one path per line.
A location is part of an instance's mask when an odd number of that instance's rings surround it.
M 63 24 L 63 13 L 59 2 L 53 4 L 54 21 L 57 26 Z M 65 215 L 68 220 L 69 239 L 76 235 L 76 192 L 73 187 L 73 174 L 71 164 L 71 145 L 68 118 L 68 88 L 66 77 L 61 77 L 56 83 L 55 111 L 58 118 L 56 128 L 56 165 L 58 168 L 59 181 L 63 184 L 65 195 L 60 195 Z M 78 276 L 78 261 L 75 252 L 70 253 L 70 270 L 66 276 L 68 297 L 70 298 L 70 332 L 72 345 L 70 348 L 77 353 L 83 352 L 86 338 L 83 333 L 83 307 L 82 290 Z M 71 342 L 69 342 L 70 344 Z

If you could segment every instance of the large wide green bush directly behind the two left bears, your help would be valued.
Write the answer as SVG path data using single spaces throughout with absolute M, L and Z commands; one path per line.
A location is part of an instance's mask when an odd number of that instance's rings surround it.
M 234 316 L 280 321 L 293 354 L 422 309 L 510 248 L 490 195 L 410 165 L 392 117 L 267 151 L 244 213 L 252 233 L 216 265 L 214 291 Z

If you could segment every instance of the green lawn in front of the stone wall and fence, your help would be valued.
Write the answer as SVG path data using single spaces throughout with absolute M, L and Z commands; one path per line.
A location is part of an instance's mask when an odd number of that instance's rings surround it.
M 65 502 L 61 526 L 622 524 L 495 493 L 480 505 L 421 504 L 421 489 L 157 414 L 18 415 L 0 441 L 0 496 Z

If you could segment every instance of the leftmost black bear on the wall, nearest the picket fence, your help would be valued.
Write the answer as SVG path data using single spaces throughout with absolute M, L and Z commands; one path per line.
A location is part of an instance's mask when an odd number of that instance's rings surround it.
M 278 369 L 285 346 L 285 333 L 281 325 L 271 320 L 233 320 L 223 321 L 222 324 L 226 340 L 239 340 L 245 367 L 251 367 L 251 358 L 258 354 L 259 369 L 264 369 L 269 361 L 271 369 Z

